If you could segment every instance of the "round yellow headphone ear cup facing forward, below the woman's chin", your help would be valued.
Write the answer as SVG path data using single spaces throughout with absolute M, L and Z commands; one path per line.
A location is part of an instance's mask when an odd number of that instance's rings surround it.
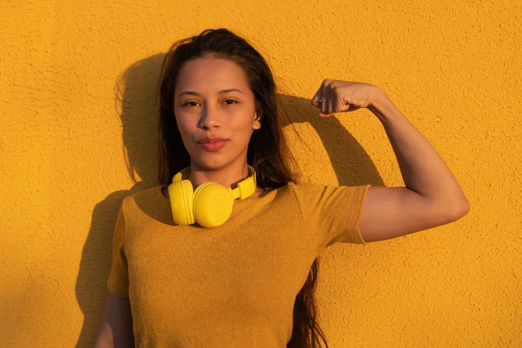
M 194 218 L 203 227 L 218 227 L 232 213 L 230 190 L 216 182 L 205 182 L 194 191 Z

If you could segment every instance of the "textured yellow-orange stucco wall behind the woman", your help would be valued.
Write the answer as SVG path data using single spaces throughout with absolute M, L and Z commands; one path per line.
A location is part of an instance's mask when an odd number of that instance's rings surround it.
M 361 81 L 385 90 L 471 204 L 449 225 L 325 250 L 316 298 L 330 346 L 522 345 L 518 0 L 0 6 L 3 346 L 92 346 L 118 208 L 157 185 L 162 54 L 220 27 L 269 61 L 316 148 L 292 145 L 305 177 L 404 186 L 369 110 L 319 119 L 310 105 L 325 78 Z

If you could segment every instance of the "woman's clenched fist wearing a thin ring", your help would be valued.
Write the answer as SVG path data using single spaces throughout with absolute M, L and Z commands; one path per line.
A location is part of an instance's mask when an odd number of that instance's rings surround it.
M 367 108 L 382 93 L 382 89 L 369 83 L 325 79 L 312 98 L 312 105 L 321 109 L 319 116 L 328 117 L 334 113 Z M 320 102 L 321 98 L 326 102 Z

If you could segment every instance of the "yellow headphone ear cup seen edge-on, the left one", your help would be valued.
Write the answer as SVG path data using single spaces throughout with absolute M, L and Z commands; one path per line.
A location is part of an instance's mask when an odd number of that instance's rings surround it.
M 174 181 L 169 185 L 172 219 L 176 225 L 192 225 L 194 223 L 193 193 L 190 180 Z

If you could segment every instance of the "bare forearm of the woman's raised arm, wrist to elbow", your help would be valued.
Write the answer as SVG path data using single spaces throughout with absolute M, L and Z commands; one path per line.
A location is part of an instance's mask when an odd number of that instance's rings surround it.
M 368 109 L 384 126 L 406 187 L 453 210 L 467 212 L 469 202 L 453 173 L 384 91 Z

